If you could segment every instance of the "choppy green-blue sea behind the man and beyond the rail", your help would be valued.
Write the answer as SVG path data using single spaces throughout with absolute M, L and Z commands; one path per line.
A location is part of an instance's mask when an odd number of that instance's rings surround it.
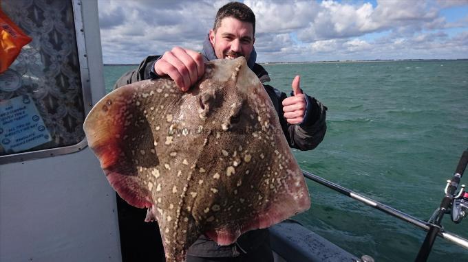
M 292 79 L 301 75 L 304 93 L 328 108 L 323 142 L 312 151 L 292 150 L 302 169 L 429 219 L 468 148 L 467 60 L 262 65 L 269 84 L 288 94 Z M 107 91 L 134 68 L 106 65 Z M 294 217 L 301 224 L 357 257 L 414 261 L 424 230 L 317 182 L 307 183 L 312 206 Z M 468 185 L 468 174 L 462 183 Z M 468 217 L 455 224 L 447 214 L 443 228 L 468 239 Z M 468 250 L 438 238 L 428 261 L 468 261 Z

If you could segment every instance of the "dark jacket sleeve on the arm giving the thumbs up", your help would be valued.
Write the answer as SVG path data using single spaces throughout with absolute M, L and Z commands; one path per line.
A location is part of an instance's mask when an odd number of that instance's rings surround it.
M 273 92 L 272 92 L 273 90 Z M 299 125 L 291 125 L 286 121 L 283 111 L 283 100 L 288 97 L 286 93 L 276 88 L 266 86 L 266 91 L 278 112 L 279 123 L 286 136 L 289 146 L 298 150 L 313 150 L 325 136 L 327 107 L 314 97 L 306 95 L 307 110 L 304 120 Z

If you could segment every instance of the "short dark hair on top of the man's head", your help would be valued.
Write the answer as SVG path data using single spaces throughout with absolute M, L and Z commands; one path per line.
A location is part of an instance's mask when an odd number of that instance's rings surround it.
M 229 2 L 223 5 L 220 10 L 217 10 L 213 30 L 216 31 L 221 26 L 222 19 L 226 17 L 233 17 L 242 22 L 252 23 L 253 35 L 255 36 L 255 14 L 253 14 L 251 8 L 244 3 Z

